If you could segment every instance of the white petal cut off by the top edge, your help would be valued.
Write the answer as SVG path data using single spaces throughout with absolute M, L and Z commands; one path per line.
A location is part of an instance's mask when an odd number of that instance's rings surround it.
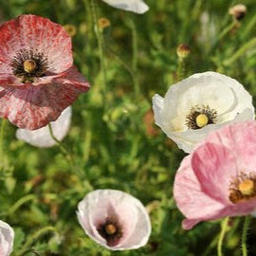
M 102 0 L 108 5 L 118 8 L 133 11 L 136 13 L 144 13 L 149 7 L 142 0 Z

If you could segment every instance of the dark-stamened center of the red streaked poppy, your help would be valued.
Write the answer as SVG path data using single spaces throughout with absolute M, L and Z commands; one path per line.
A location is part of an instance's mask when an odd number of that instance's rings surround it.
M 21 50 L 10 63 L 13 74 L 22 82 L 34 82 L 35 78 L 45 76 L 47 60 L 43 53 L 36 50 Z

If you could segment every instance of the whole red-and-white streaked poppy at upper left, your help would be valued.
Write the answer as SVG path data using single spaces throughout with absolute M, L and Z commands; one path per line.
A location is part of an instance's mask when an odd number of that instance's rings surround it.
M 73 65 L 71 39 L 50 20 L 21 15 L 0 27 L 0 117 L 28 130 L 56 120 L 89 83 Z

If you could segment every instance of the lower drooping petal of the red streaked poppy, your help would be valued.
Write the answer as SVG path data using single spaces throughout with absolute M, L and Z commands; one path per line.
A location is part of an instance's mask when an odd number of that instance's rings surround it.
M 39 79 L 24 86 L 0 86 L 0 117 L 28 130 L 58 119 L 64 108 L 89 89 L 75 66 L 58 76 Z

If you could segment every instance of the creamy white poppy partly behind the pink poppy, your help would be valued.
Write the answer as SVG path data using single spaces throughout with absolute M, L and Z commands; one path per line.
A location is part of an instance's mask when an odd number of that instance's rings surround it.
M 155 123 L 186 153 L 210 131 L 254 119 L 252 98 L 244 86 L 210 71 L 175 83 L 164 98 L 155 94 L 153 110 Z

